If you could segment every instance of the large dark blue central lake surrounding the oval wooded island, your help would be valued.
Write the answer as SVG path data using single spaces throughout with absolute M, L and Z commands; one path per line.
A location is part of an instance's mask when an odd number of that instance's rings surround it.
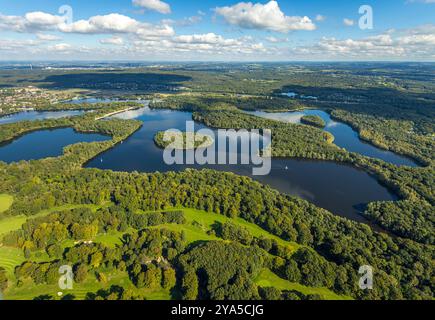
M 143 127 L 122 144 L 90 161 L 86 167 L 115 171 L 167 172 L 186 168 L 211 168 L 249 176 L 281 192 L 306 199 L 337 215 L 366 222 L 359 214 L 364 204 L 372 201 L 397 200 L 397 197 L 381 186 L 364 171 L 337 164 L 294 159 L 272 159 L 272 171 L 266 176 L 252 176 L 252 165 L 167 165 L 163 150 L 156 147 L 154 135 L 168 129 L 186 130 L 191 113 L 149 110 L 129 111 L 115 117 L 139 119 Z M 203 129 L 196 123 L 195 129 Z M 214 131 L 215 132 L 215 131 Z M 216 146 L 216 152 L 221 148 Z

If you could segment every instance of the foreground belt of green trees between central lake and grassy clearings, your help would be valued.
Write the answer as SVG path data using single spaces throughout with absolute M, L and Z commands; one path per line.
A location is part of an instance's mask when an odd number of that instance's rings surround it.
M 51 195 L 51 200 L 47 198 L 42 200 L 48 195 Z M 30 277 L 32 281 L 49 283 L 49 270 L 54 270 L 57 265 L 51 266 L 53 262 L 41 265 L 40 262 L 32 262 L 31 259 L 33 250 L 43 248 L 48 254 L 54 255 L 61 261 L 64 259 L 63 261 L 74 264 L 85 264 L 86 268 L 91 270 L 96 268 L 97 272 L 102 263 L 105 263 L 106 268 L 107 263 L 109 267 L 116 266 L 116 268 L 120 263 L 120 270 L 123 270 L 125 263 L 129 277 L 136 288 L 141 287 L 142 283 L 147 288 L 157 286 L 159 280 L 164 279 L 165 268 L 173 268 L 177 277 L 181 276 L 181 283 L 174 294 L 175 296 L 181 294 L 186 299 L 237 296 L 248 298 L 240 296 L 241 294 L 256 298 L 259 293 L 252 281 L 261 268 L 269 268 L 290 282 L 299 282 L 310 287 L 326 287 L 337 294 L 359 299 L 427 298 L 431 296 L 433 289 L 430 280 L 433 267 L 431 246 L 373 232 L 368 226 L 336 217 L 306 201 L 281 195 L 249 178 L 233 174 L 209 170 L 188 170 L 179 174 L 127 174 L 90 169 L 78 172 L 73 170 L 70 174 L 62 176 L 47 174 L 34 190 L 32 198 L 27 197 L 23 202 L 17 198 L 9 214 L 14 214 L 15 210 L 23 212 L 24 206 L 29 207 L 27 212 L 31 214 L 33 208 L 41 203 L 46 206 L 70 203 L 93 204 L 102 208 L 95 213 L 89 210 L 52 213 L 46 217 L 30 220 L 21 230 L 6 235 L 3 241 L 7 245 L 23 249 L 25 256 L 30 258 L 30 261 L 24 262 L 16 269 L 15 276 L 18 279 Z M 255 239 L 246 230 L 239 230 L 231 224 L 218 225 L 213 230 L 216 236 L 235 241 L 234 253 L 231 253 L 231 247 L 222 248 L 222 244 L 191 245 L 189 248 L 192 251 L 186 251 L 182 244 L 183 233 L 174 238 L 175 241 L 180 237 L 181 242 L 165 244 L 168 241 L 165 240 L 162 244 L 158 244 L 158 237 L 154 234 L 148 238 L 150 240 L 146 240 L 146 234 L 154 232 L 146 231 L 147 228 L 159 224 L 171 226 L 183 223 L 183 215 L 175 212 L 170 215 L 151 214 L 142 218 L 136 214 L 156 210 L 167 211 L 168 209 L 165 208 L 177 207 L 214 212 L 231 219 L 240 217 L 256 224 L 271 235 L 285 241 L 297 242 L 302 247 L 295 251 L 294 247 L 290 249 L 274 244 L 274 241 Z M 129 240 L 131 228 L 139 232 L 137 235 L 139 238 L 134 242 Z M 89 245 L 80 242 L 63 251 L 56 248 L 58 243 L 62 243 L 59 242 L 61 239 L 88 240 L 110 230 L 117 230 L 124 234 L 122 236 L 124 249 L 119 250 L 124 253 L 129 252 L 126 251 L 127 248 L 133 250 L 132 254 L 124 254 L 125 258 L 131 256 L 133 260 L 123 260 L 124 263 L 121 263 L 119 258 L 118 260 L 116 257 L 112 258 L 113 250 L 116 251 L 118 246 L 109 250 L 102 244 Z M 164 232 L 163 230 L 161 232 Z M 153 245 L 143 244 L 143 241 L 151 241 L 151 239 Z M 172 236 L 165 236 L 165 239 L 172 239 Z M 250 249 L 238 247 L 237 243 L 249 244 Z M 134 254 L 136 246 L 147 248 L 147 251 L 141 251 L 141 255 Z M 255 249 L 256 246 L 261 250 Z M 305 247 L 315 251 L 302 250 Z M 164 248 L 166 249 L 163 250 Z M 219 253 L 219 250 L 223 250 L 222 253 Z M 246 253 L 244 250 L 247 250 Z M 254 253 L 251 250 L 260 251 Z M 180 252 L 183 254 L 180 255 Z M 213 278 L 213 281 L 217 281 L 215 284 L 203 283 L 201 272 L 208 275 L 221 274 L 219 269 L 215 269 L 220 267 L 219 264 L 207 266 L 206 257 L 222 257 L 222 254 L 229 255 L 226 256 L 226 261 L 229 265 L 234 263 L 235 269 L 227 265 L 228 275 L 225 273 L 221 275 L 223 278 Z M 233 254 L 238 258 L 231 260 Z M 246 266 L 240 259 L 244 254 L 250 257 Z M 259 260 L 255 262 L 257 260 L 252 259 L 252 256 L 257 254 Z M 196 256 L 198 257 L 195 258 Z M 407 257 L 413 258 L 409 260 Z M 142 264 L 135 267 L 134 261 L 137 259 L 141 259 L 139 261 L 142 261 Z M 154 259 L 157 262 L 154 262 Z M 145 263 L 147 261 L 151 262 Z M 378 285 L 370 292 L 359 290 L 357 282 L 352 280 L 357 279 L 357 269 L 362 262 L 373 265 L 377 270 Z M 147 265 L 145 269 L 144 264 Z M 129 265 L 132 266 L 131 271 Z M 421 270 L 421 273 L 416 273 L 415 268 Z M 315 269 L 318 271 L 314 271 Z M 339 272 L 334 272 L 337 270 Z M 226 281 L 227 276 L 235 276 L 238 285 L 235 287 L 219 285 Z M 397 286 L 396 283 L 400 285 Z M 413 285 L 410 285 L 411 283 Z

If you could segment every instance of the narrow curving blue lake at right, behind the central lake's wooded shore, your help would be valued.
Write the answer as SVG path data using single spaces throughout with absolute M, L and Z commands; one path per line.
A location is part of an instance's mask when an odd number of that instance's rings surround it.
M 268 113 L 262 111 L 249 112 L 258 117 L 284 121 L 288 123 L 301 123 L 301 118 L 305 115 L 316 115 L 321 117 L 325 123 L 325 130 L 332 133 L 335 137 L 334 143 L 350 152 L 356 152 L 367 157 L 377 158 L 398 166 L 418 167 L 419 164 L 412 159 L 398 155 L 394 152 L 383 150 L 359 138 L 358 132 L 349 125 L 331 119 L 331 116 L 321 110 L 304 110 L 298 112 L 277 112 Z

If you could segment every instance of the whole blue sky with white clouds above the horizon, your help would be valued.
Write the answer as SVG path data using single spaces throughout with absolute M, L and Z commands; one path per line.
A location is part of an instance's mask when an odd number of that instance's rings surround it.
M 0 59 L 434 61 L 435 0 L 0 0 Z

